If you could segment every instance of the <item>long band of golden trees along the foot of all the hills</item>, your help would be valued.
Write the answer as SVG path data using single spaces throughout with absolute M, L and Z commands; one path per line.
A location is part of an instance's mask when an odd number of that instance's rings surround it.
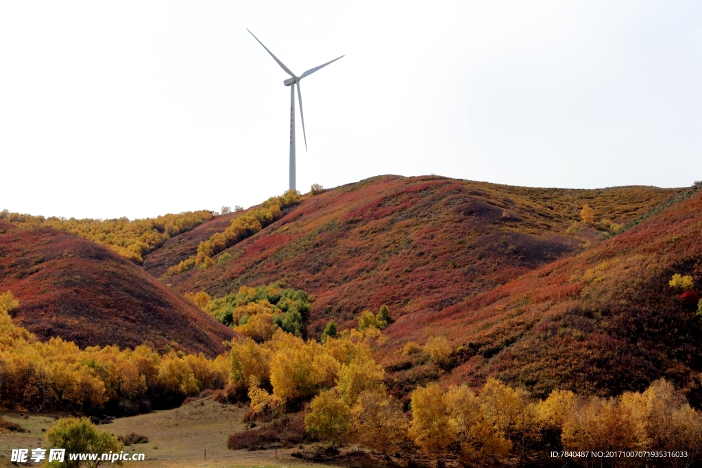
M 276 293 L 247 288 L 238 294 Z M 145 345 L 81 350 L 60 338 L 40 342 L 12 323 L 8 312 L 15 307 L 11 293 L 0 295 L 4 406 L 85 413 L 110 407 L 135 414 L 151 405 L 178 406 L 213 389 L 230 401 L 249 401 L 252 415 L 263 420 L 303 407 L 305 428 L 319 439 L 352 441 L 388 455 L 415 446 L 431 458 L 491 463 L 548 450 L 686 451 L 687 457 L 665 460 L 677 467 L 689 466 L 702 450 L 701 413 L 665 380 L 614 398 L 554 390 L 543 400 L 494 378 L 477 388 L 435 382 L 416 388 L 405 407 L 388 393 L 385 370 L 373 359 L 384 340 L 376 323 L 387 311 L 359 316 L 360 330 L 328 327 L 323 342 L 278 327 L 260 340 L 232 340 L 229 352 L 206 359 L 172 350 L 159 355 Z M 405 352 L 425 352 L 440 362 L 445 345 L 435 338 L 424 347 L 411 343 Z M 575 460 L 585 466 L 612 462 Z

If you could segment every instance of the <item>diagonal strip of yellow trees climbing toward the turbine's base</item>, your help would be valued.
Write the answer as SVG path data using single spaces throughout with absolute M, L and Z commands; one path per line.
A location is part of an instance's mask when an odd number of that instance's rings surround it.
M 282 209 L 289 206 L 298 205 L 303 201 L 303 196 L 295 189 L 288 190 L 281 196 L 272 196 L 261 203 L 260 208 L 248 210 L 232 220 L 232 224 L 224 232 L 216 232 L 209 239 L 199 243 L 197 255 L 183 260 L 178 265 L 173 265 L 166 270 L 164 276 L 187 272 L 195 265 L 201 265 L 206 269 L 214 265 L 212 257 L 225 248 L 233 246 L 247 237 L 253 236 L 264 227 L 272 224 L 283 217 Z

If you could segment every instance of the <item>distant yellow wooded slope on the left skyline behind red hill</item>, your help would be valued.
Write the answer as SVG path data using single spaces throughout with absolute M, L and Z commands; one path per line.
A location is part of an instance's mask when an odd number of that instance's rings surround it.
M 212 217 L 213 213 L 208 210 L 187 211 L 177 215 L 168 214 L 157 218 L 133 221 L 128 220 L 128 218 L 114 220 L 88 218 L 77 220 L 55 216 L 45 218 L 44 216 L 10 213 L 8 210 L 0 212 L 0 219 L 6 219 L 20 229 L 52 227 L 70 232 L 111 248 L 138 265 L 143 263 L 145 254 L 161 246 L 171 236 L 190 231 Z

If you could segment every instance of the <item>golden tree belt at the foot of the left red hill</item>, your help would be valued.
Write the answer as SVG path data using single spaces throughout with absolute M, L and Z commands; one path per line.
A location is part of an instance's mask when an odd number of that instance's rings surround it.
M 79 349 L 59 337 L 39 340 L 0 311 L 0 401 L 34 410 L 100 408 L 107 401 L 139 401 L 148 394 L 187 396 L 221 388 L 229 377 L 224 356 L 159 356 L 146 346 Z

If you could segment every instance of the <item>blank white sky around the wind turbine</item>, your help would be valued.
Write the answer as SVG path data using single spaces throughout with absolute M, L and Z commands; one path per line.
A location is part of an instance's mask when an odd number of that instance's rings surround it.
M 699 1 L 4 1 L 0 209 L 129 218 L 379 174 L 702 179 Z

